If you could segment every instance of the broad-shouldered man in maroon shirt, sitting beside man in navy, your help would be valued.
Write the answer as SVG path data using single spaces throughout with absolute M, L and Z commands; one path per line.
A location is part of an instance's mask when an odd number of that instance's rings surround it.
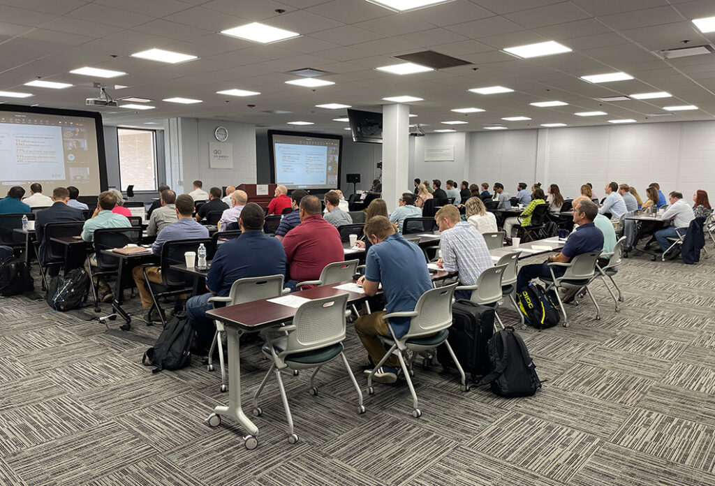
M 320 199 L 304 197 L 300 201 L 300 224 L 283 238 L 290 278 L 286 287 L 295 289 L 297 282 L 317 280 L 325 265 L 342 262 L 342 249 L 337 228 L 322 219 Z

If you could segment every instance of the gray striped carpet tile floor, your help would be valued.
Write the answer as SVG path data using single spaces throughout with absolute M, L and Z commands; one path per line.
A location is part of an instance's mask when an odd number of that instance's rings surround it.
M 195 357 L 178 372 L 142 367 L 158 327 L 135 318 L 107 331 L 87 320 L 92 307 L 0 299 L 0 485 L 715 486 L 714 271 L 715 258 L 631 257 L 621 312 L 596 283 L 602 320 L 585 299 L 567 307 L 571 327 L 520 331 L 548 380 L 535 397 L 463 393 L 441 367 L 418 367 L 420 419 L 404 382 L 375 385 L 358 416 L 335 362 L 317 397 L 306 375 L 285 378 L 300 436 L 290 445 L 273 380 L 253 451 L 232 421 L 204 424 L 227 401 L 218 372 Z M 138 299 L 128 307 L 142 315 Z M 346 349 L 364 388 L 351 329 Z M 247 399 L 268 362 L 257 344 L 243 355 Z

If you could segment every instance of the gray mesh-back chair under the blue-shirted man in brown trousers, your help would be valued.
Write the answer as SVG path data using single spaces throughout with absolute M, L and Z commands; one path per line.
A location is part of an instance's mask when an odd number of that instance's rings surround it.
M 412 415 L 415 418 L 420 417 L 422 412 L 420 411 L 417 394 L 415 393 L 415 387 L 411 379 L 411 376 L 414 375 L 413 359 L 420 352 L 430 351 L 442 345 L 447 347 L 450 356 L 455 362 L 455 366 L 461 377 L 462 390 L 469 390 L 464 370 L 460 366 L 452 347 L 447 341 L 449 337 L 449 327 L 452 325 L 452 297 L 456 288 L 457 284 L 451 284 L 445 285 L 445 287 L 430 289 L 420 296 L 413 311 L 385 314 L 383 319 L 385 319 L 385 322 L 388 324 L 390 336 L 381 336 L 378 334 L 378 337 L 383 343 L 387 344 L 390 349 L 385 353 L 383 359 L 380 359 L 380 362 L 375 366 L 373 371 L 370 372 L 370 375 L 368 375 L 369 395 L 375 394 L 375 390 L 373 389 L 373 375 L 375 375 L 375 371 L 385 364 L 391 354 L 395 354 L 400 361 L 400 366 L 403 371 L 406 370 L 404 375 L 405 381 L 407 381 L 407 385 L 410 388 L 410 395 L 412 395 Z M 392 324 L 390 324 L 390 319 L 394 319 L 395 317 L 410 318 L 410 329 L 400 338 L 395 337 L 395 331 L 393 330 Z M 408 349 L 410 349 L 413 354 L 412 359 L 406 363 L 403 354 Z

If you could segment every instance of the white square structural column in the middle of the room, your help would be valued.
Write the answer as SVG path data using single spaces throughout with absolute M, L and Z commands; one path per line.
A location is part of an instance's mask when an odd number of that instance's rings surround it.
M 410 106 L 383 106 L 383 199 L 388 212 L 398 207 L 398 200 L 409 189 Z

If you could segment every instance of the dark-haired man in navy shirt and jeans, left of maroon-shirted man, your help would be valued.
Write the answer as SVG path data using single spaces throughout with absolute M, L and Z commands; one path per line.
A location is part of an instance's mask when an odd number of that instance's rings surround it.
M 207 294 L 190 298 L 186 314 L 196 331 L 197 349 L 211 347 L 216 326 L 207 319 L 206 312 L 212 309 L 209 297 L 227 297 L 233 282 L 246 277 L 265 277 L 285 274 L 285 251 L 275 238 L 263 234 L 263 209 L 250 202 L 243 208 L 238 219 L 241 235 L 221 244 L 206 277 Z

